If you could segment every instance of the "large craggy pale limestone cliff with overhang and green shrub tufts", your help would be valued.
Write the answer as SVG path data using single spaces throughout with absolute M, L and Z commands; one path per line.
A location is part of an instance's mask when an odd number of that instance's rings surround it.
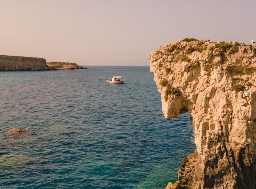
M 256 188 L 256 48 L 178 41 L 151 52 L 166 118 L 191 115 L 196 150 L 168 188 Z

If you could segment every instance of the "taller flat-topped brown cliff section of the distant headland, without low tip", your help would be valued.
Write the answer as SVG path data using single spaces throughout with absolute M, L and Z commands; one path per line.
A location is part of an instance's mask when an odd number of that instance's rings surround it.
M 43 58 L 0 55 L 0 71 L 48 69 Z

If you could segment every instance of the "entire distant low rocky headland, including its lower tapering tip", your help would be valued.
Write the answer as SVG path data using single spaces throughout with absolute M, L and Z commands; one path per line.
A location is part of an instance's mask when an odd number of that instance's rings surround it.
M 43 58 L 0 55 L 0 71 L 88 69 L 69 62 L 49 62 Z

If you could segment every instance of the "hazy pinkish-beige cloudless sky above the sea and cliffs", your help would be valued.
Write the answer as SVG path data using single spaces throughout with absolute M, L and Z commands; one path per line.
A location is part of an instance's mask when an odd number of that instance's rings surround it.
M 186 37 L 256 40 L 255 0 L 0 0 L 0 55 L 147 66 Z

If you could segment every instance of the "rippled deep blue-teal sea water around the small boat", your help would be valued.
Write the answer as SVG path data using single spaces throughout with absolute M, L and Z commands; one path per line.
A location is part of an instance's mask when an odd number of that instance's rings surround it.
M 149 67 L 0 72 L 0 94 L 1 189 L 163 189 L 195 149 L 190 115 L 164 118 Z

